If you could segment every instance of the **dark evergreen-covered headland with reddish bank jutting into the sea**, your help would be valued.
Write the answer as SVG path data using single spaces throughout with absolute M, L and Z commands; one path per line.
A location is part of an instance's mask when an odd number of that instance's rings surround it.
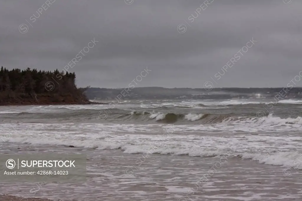
M 0 70 L 0 105 L 88 104 L 75 73 L 6 68 Z

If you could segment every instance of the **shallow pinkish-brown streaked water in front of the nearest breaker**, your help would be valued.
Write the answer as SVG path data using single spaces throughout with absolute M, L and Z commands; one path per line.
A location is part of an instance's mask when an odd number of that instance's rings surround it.
M 302 198 L 302 171 L 292 169 L 291 175 L 285 177 L 281 166 L 224 156 L 152 154 L 144 159 L 142 154 L 120 150 L 72 151 L 88 154 L 87 182 L 48 183 L 34 194 L 30 193 L 35 187 L 33 183 L 0 183 L 3 193 L 24 197 L 6 196 L 2 200 L 30 201 L 40 200 L 31 197 L 42 197 L 77 201 L 300 201 Z M 137 164 L 137 161 L 143 162 Z

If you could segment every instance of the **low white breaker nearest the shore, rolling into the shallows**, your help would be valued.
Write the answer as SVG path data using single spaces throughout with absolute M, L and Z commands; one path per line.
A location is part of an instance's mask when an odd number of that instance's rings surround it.
M 45 138 L 45 137 L 44 137 Z M 85 147 L 99 150 L 115 150 L 120 149 L 124 153 L 128 154 L 143 154 L 150 150 L 150 146 L 144 141 L 137 141 L 136 143 L 122 143 L 119 141 L 103 142 L 96 141 L 93 139 L 69 139 L 69 140 L 58 140 L 55 138 L 49 138 L 44 140 L 43 137 L 18 137 L 10 138 L 10 143 L 26 143 L 26 144 L 48 144 L 56 146 L 69 146 L 69 147 Z M 164 143 L 162 141 L 162 143 Z M 225 140 L 225 143 L 230 143 L 230 141 Z M 230 147 L 234 144 L 230 143 Z M 251 144 L 252 146 L 252 144 Z M 256 161 L 261 164 L 284 166 L 294 169 L 302 169 L 302 155 L 295 151 L 277 151 L 277 152 L 254 152 L 249 149 L 242 149 L 240 147 L 233 147 L 236 150 L 231 151 L 225 148 L 210 148 L 203 146 L 173 146 L 169 144 L 157 145 L 156 149 L 152 153 L 148 154 L 161 154 L 161 155 L 188 155 L 190 157 L 220 157 L 223 161 L 231 158 L 249 159 Z M 251 148 L 251 147 L 247 147 Z

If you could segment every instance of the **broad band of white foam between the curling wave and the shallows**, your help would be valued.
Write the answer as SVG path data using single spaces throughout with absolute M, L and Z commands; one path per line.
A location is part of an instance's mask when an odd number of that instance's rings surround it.
M 156 118 L 156 117 L 155 117 Z M 222 125 L 222 124 L 220 124 Z M 259 127 L 259 126 L 258 126 Z M 264 126 L 266 128 L 267 126 Z M 173 129 L 172 129 L 173 128 Z M 238 126 L 166 124 L 2 124 L 1 143 L 120 149 L 125 153 L 241 156 L 267 165 L 302 169 L 300 136 L 230 135 Z M 284 128 L 284 127 L 282 127 Z M 169 135 L 167 130 L 169 130 Z M 262 129 L 262 128 L 260 128 Z M 173 130 L 173 132 L 172 132 Z M 197 132 L 196 132 L 197 131 Z M 220 131 L 214 136 L 201 133 Z M 297 133 L 300 129 L 297 130 Z M 166 133 L 166 134 L 164 134 Z M 257 133 L 261 133 L 257 131 Z M 296 150 L 296 151 L 293 151 Z M 298 162 L 300 164 L 298 164 Z

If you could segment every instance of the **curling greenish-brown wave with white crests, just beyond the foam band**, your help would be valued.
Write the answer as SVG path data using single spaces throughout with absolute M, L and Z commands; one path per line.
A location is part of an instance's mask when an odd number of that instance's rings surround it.
M 137 110 L 122 110 L 110 109 L 107 111 L 106 119 L 103 122 L 149 122 L 149 123 L 180 123 L 180 124 L 263 124 L 263 125 L 302 125 L 302 118 L 281 118 L 272 114 L 262 118 L 257 117 L 257 114 L 250 113 L 248 116 L 241 114 L 238 116 L 234 113 L 214 114 L 214 113 L 190 113 L 185 111 L 178 112 L 155 112 L 155 111 L 137 111 Z M 68 112 L 35 112 L 35 111 L 8 111 L 2 112 L 0 119 L 27 120 L 33 121 L 37 119 L 56 119 L 56 120 L 94 120 L 100 121 L 98 118 L 98 110 L 80 109 L 69 110 Z

